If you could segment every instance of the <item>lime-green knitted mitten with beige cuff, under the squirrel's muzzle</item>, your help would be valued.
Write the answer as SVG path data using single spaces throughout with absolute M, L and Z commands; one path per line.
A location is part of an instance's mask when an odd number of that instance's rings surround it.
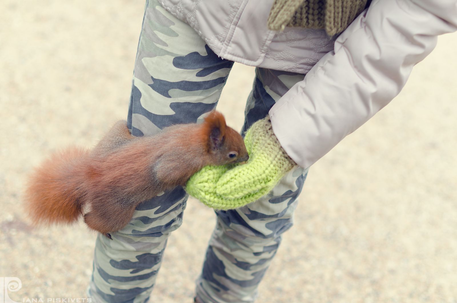
M 268 194 L 296 165 L 279 144 L 269 117 L 250 127 L 244 144 L 246 164 L 206 166 L 187 181 L 187 193 L 214 209 L 238 208 Z

